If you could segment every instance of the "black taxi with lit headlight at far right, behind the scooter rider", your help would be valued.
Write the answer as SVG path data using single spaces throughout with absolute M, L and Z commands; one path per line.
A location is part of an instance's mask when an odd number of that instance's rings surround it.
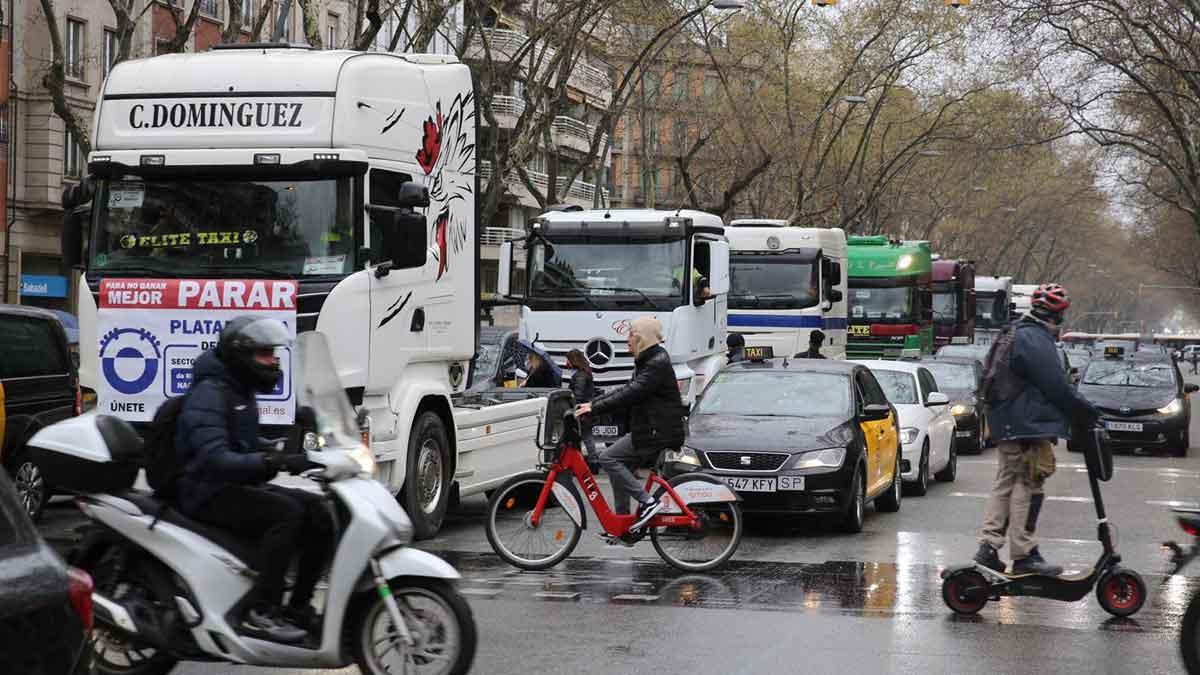
M 1115 448 L 1169 450 L 1187 455 L 1190 446 L 1192 404 L 1175 362 L 1153 352 L 1126 353 L 1109 346 L 1102 358 L 1088 362 L 1079 393 L 1100 410 Z M 1067 443 L 1072 452 L 1082 448 Z

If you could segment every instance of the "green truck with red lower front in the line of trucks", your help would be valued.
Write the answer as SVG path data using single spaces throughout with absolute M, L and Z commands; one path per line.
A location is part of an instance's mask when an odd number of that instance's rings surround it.
M 934 351 L 929 241 L 848 237 L 846 358 L 900 358 Z

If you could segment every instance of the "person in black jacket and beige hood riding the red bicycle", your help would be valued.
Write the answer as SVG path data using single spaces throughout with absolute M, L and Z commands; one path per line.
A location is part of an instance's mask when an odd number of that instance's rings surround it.
M 634 354 L 634 377 L 629 384 L 575 408 L 576 417 L 612 412 L 629 416 L 629 434 L 608 446 L 599 459 L 612 480 L 613 510 L 628 514 L 629 498 L 638 502 L 631 532 L 643 527 L 662 508 L 658 500 L 646 494 L 631 470 L 652 462 L 661 450 L 678 448 L 684 441 L 683 399 L 671 356 L 661 342 L 659 319 L 635 319 L 628 338 L 629 351 Z

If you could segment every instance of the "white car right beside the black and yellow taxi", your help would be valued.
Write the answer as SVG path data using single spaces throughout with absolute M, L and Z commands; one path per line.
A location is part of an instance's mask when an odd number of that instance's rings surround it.
M 871 369 L 888 401 L 900 414 L 900 476 L 905 488 L 920 496 L 929 490 L 930 476 L 954 480 L 954 416 L 949 398 L 937 390 L 937 381 L 919 363 L 860 360 Z

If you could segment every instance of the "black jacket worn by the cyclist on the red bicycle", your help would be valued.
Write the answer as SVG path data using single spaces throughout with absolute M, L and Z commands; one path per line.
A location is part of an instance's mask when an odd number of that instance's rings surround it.
M 592 402 L 594 414 L 629 414 L 629 432 L 638 450 L 678 448 L 684 440 L 684 405 L 671 366 L 671 356 L 661 345 L 637 354 L 629 384 Z

